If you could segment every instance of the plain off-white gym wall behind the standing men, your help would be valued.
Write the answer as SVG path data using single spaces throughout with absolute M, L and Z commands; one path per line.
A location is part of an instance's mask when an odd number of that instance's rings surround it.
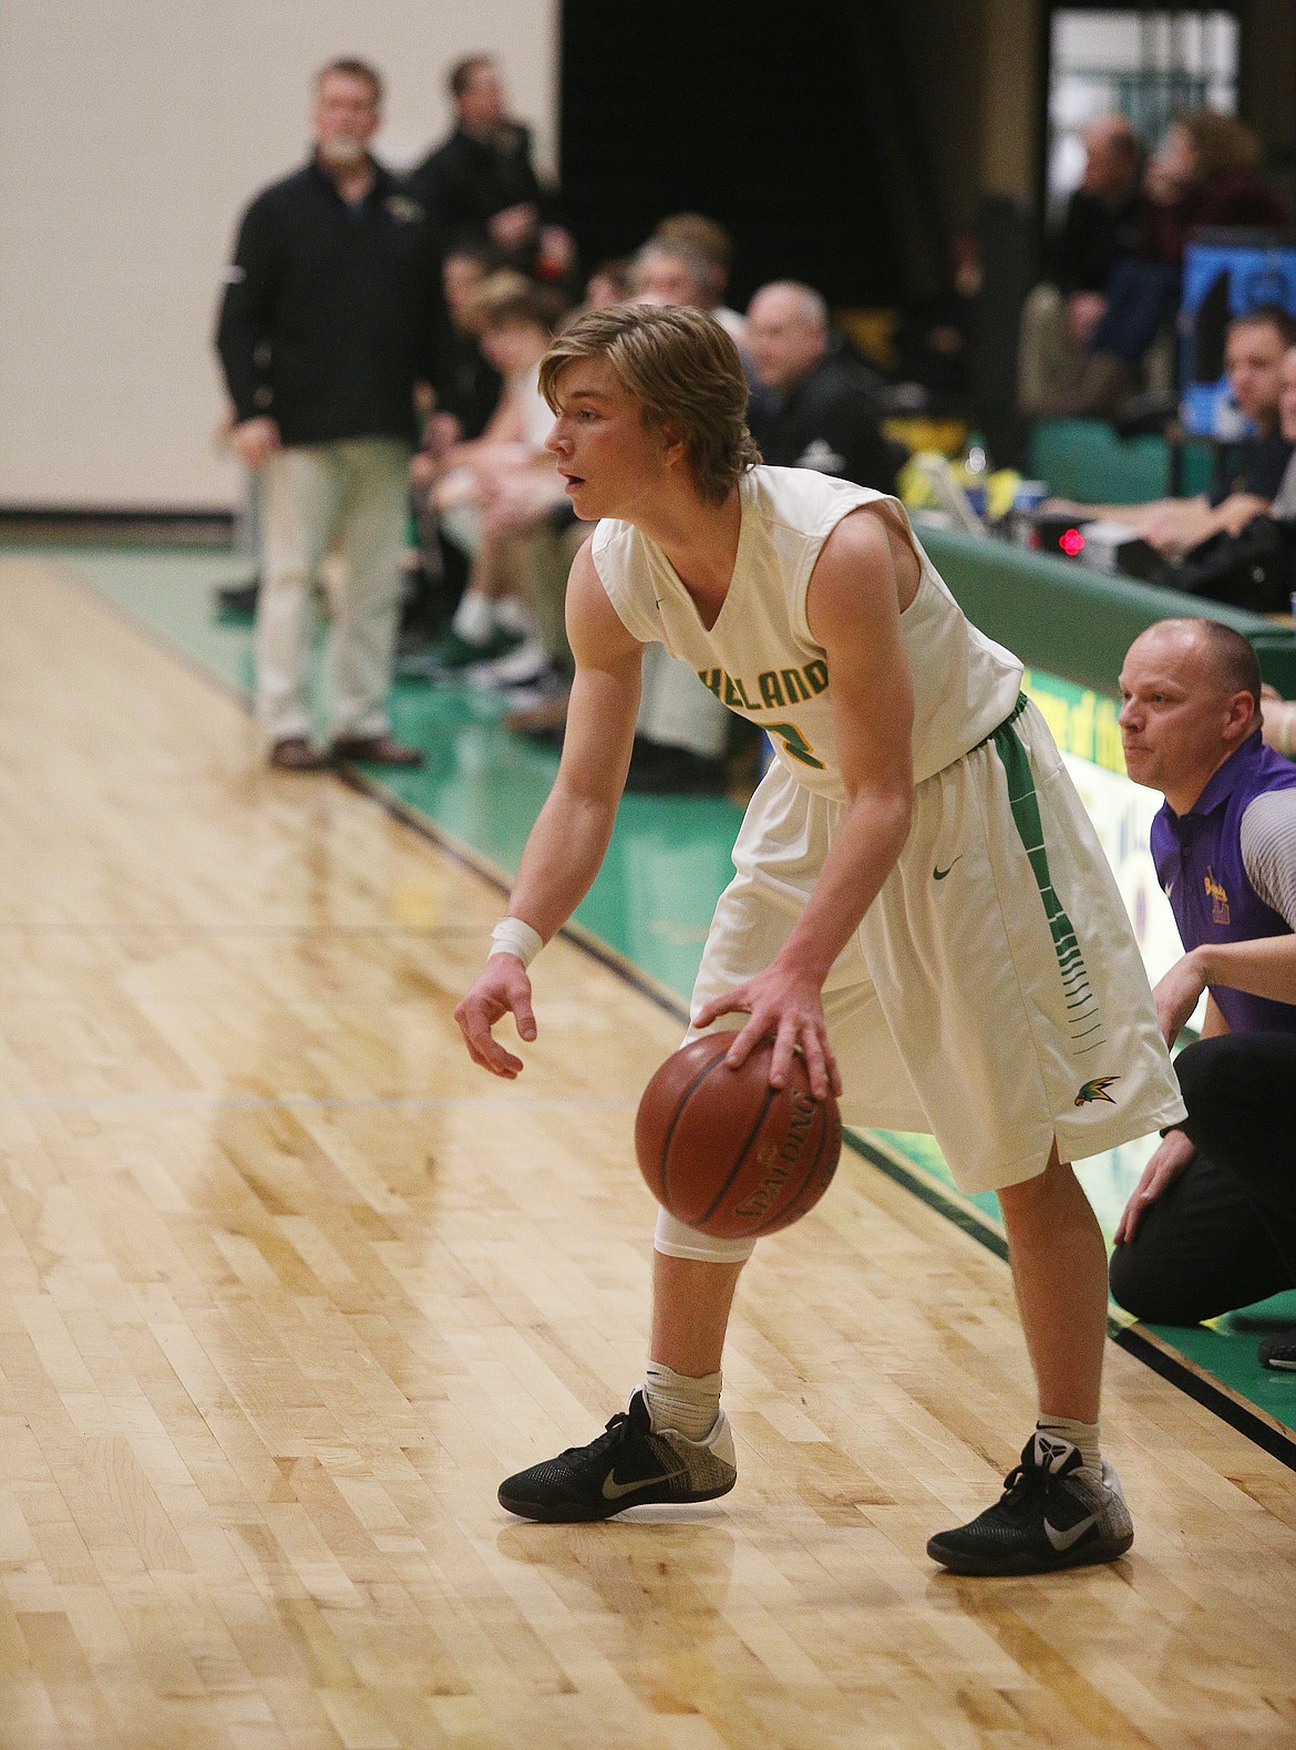
M 387 77 L 378 152 L 448 128 L 498 52 L 553 170 L 558 0 L 3 0 L 0 506 L 233 504 L 212 327 L 238 212 L 304 159 L 336 54 Z

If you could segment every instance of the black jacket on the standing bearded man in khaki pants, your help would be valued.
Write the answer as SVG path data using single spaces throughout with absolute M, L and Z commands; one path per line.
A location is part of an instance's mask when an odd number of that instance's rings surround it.
M 217 327 L 240 420 L 285 444 L 413 439 L 444 324 L 439 236 L 381 164 L 353 208 L 313 159 L 243 214 Z

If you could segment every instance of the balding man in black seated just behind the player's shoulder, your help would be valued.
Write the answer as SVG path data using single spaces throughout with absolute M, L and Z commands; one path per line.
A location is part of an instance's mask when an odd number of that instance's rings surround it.
M 833 336 L 819 292 L 794 280 L 763 285 L 747 308 L 747 424 L 766 462 L 892 490 L 904 452 L 878 427 L 881 380 Z

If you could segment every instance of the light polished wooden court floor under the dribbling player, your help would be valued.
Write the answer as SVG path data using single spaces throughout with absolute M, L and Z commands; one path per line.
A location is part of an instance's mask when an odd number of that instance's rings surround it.
M 0 614 L 0 1745 L 1296 1743 L 1296 1474 L 1119 1349 L 1132 1556 L 927 1563 L 1030 1379 L 1006 1267 L 861 1160 L 740 1292 L 731 1496 L 502 1514 L 638 1377 L 677 1022 L 556 943 L 488 1082 L 488 882 L 58 567 Z

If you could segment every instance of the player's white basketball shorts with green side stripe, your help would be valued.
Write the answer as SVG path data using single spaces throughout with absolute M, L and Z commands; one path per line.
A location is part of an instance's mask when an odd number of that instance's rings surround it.
M 840 816 L 771 766 L 738 833 L 694 1015 L 775 959 Z M 916 786 L 904 850 L 826 980 L 824 1013 L 843 1120 L 930 1132 L 965 1192 L 1042 1172 L 1055 1138 L 1062 1160 L 1079 1160 L 1184 1118 L 1116 880 L 1025 700 Z M 749 1248 L 663 1213 L 658 1250 Z

